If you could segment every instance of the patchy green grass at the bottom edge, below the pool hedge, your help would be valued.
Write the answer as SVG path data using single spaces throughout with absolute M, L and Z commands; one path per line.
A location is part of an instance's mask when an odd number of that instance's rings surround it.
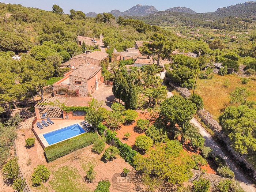
M 53 173 L 49 182 L 55 192 L 89 192 L 89 188 L 83 182 L 81 175 L 75 167 L 60 167 Z

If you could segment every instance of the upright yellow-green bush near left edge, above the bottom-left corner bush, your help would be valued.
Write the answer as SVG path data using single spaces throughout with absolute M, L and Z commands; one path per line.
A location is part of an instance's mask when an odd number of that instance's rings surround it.
M 19 176 L 18 158 L 14 157 L 3 165 L 3 178 L 6 180 L 15 180 Z

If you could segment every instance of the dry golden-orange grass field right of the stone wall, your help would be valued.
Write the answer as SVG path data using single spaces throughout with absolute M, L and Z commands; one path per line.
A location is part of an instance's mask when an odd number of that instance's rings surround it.
M 228 87 L 224 86 L 225 80 L 229 82 Z M 256 101 L 256 81 L 251 80 L 247 84 L 242 84 L 241 78 L 235 74 L 214 75 L 212 79 L 197 78 L 195 93 L 203 98 L 204 108 L 217 120 L 223 109 L 229 106 L 229 94 L 236 87 L 246 87 L 251 92 L 248 100 Z M 191 90 L 191 93 L 193 93 L 193 90 Z

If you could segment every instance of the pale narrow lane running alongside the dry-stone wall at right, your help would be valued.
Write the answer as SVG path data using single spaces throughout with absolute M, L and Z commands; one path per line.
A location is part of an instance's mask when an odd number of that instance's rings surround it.
M 173 93 L 167 91 L 167 97 L 172 97 Z M 237 167 L 236 164 L 227 157 L 227 155 L 222 151 L 222 148 L 219 146 L 217 142 L 215 142 L 209 133 L 202 127 L 202 125 L 196 120 L 196 118 L 192 118 L 190 121 L 196 127 L 199 128 L 201 135 L 203 135 L 205 139 L 205 144 L 208 147 L 211 147 L 215 154 L 219 155 L 223 159 L 225 159 L 229 168 L 234 172 L 235 179 L 239 181 L 241 187 L 247 192 L 256 192 L 256 188 L 254 187 L 253 183 L 241 172 Z

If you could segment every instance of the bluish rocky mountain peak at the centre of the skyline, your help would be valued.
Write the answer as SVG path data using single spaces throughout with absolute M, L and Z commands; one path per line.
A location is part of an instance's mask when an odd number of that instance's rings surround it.
M 154 6 L 136 5 L 131 9 L 124 11 L 123 14 L 128 16 L 144 16 L 153 14 L 155 12 L 158 12 L 158 10 Z

